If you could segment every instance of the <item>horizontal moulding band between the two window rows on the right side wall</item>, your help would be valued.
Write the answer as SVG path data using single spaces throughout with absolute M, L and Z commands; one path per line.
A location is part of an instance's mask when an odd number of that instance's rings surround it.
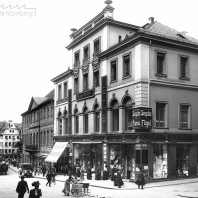
M 163 80 L 156 80 L 156 79 L 150 79 L 151 85 L 156 86 L 164 86 L 164 87 L 174 87 L 174 88 L 180 88 L 180 89 L 191 89 L 191 90 L 198 90 L 198 85 L 195 84 L 185 84 L 185 83 L 179 83 L 179 82 L 170 82 L 170 81 L 163 81 Z

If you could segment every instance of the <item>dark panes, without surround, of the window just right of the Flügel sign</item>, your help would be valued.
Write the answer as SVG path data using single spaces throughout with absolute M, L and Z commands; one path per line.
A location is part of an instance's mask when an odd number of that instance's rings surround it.
M 156 127 L 165 127 L 166 103 L 156 103 Z

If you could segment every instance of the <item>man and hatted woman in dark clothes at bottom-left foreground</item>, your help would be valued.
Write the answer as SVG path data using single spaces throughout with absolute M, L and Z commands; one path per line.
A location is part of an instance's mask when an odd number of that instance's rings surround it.
M 21 176 L 21 181 L 18 182 L 16 187 L 16 192 L 18 193 L 18 198 L 24 198 L 26 191 L 29 193 L 29 198 L 40 198 L 42 196 L 42 191 L 39 189 L 39 181 L 32 183 L 34 189 L 29 191 L 27 182 L 24 180 L 24 176 Z

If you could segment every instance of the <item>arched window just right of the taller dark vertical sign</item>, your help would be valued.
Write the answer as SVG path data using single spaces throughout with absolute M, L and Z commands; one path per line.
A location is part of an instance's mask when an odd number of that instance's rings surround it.
M 119 109 L 118 101 L 113 99 L 111 101 L 112 108 L 112 131 L 119 131 Z

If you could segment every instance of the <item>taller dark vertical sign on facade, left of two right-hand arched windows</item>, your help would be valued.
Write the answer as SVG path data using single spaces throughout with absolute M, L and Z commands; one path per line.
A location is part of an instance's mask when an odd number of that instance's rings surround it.
M 102 77 L 102 133 L 107 133 L 107 76 Z

